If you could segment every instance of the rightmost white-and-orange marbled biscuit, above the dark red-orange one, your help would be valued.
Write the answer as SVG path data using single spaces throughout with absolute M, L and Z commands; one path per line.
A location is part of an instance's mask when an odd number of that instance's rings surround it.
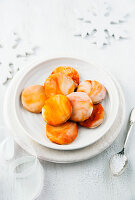
M 105 87 L 98 81 L 83 81 L 79 84 L 77 92 L 85 92 L 91 98 L 93 104 L 100 103 L 106 96 Z

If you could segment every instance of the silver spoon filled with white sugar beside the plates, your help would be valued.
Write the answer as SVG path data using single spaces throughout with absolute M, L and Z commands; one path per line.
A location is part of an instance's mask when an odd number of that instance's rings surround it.
M 126 147 L 128 138 L 129 138 L 129 134 L 131 132 L 131 129 L 134 123 L 135 123 L 135 108 L 132 109 L 131 114 L 130 114 L 129 129 L 124 141 L 123 149 L 119 153 L 113 155 L 110 159 L 110 169 L 114 176 L 121 175 L 126 169 L 126 166 L 128 164 L 128 159 L 125 156 L 124 152 L 125 152 L 125 147 Z

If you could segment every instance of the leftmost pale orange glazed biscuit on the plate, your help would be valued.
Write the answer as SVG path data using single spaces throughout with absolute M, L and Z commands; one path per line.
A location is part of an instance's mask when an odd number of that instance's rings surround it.
M 42 111 L 45 100 L 45 88 L 42 85 L 29 86 L 21 94 L 23 107 L 33 113 L 40 113 Z

